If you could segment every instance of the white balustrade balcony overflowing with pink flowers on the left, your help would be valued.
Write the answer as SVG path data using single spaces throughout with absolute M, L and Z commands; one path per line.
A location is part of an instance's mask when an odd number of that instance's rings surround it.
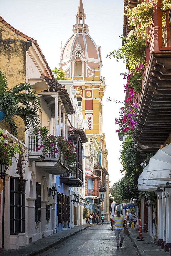
M 60 175 L 70 170 L 77 159 L 71 140 L 62 136 L 47 135 L 46 127 L 37 127 L 29 134 L 29 159 L 47 173 Z

